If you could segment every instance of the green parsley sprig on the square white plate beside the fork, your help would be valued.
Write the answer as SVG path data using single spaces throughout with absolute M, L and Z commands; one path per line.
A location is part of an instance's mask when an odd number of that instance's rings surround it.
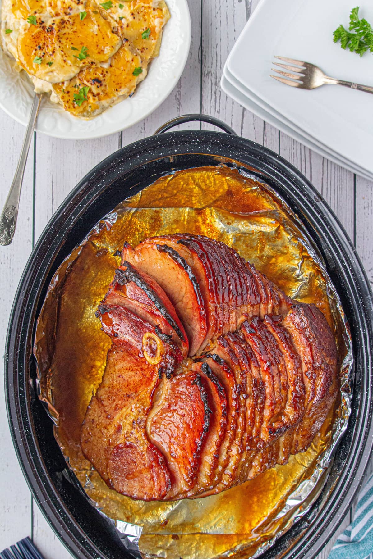
M 348 30 L 340 25 L 333 33 L 334 42 L 341 41 L 342 49 L 347 47 L 351 53 L 362 56 L 369 50 L 373 53 L 373 29 L 370 23 L 358 16 L 359 7 L 352 8 Z

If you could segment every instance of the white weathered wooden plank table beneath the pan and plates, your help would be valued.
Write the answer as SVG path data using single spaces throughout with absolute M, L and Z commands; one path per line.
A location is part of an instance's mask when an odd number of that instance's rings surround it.
M 221 91 L 226 57 L 259 0 L 190 0 L 192 42 L 186 68 L 168 99 L 138 125 L 97 140 L 69 141 L 34 135 L 23 181 L 15 238 L 0 247 L 0 347 L 4 353 L 8 317 L 23 267 L 54 211 L 94 165 L 122 145 L 145 138 L 173 116 L 213 115 L 238 134 L 280 153 L 314 184 L 350 235 L 373 283 L 373 183 L 330 163 L 243 109 Z M 248 53 L 248 56 L 254 53 Z M 195 124 L 185 125 L 192 129 Z M 0 207 L 16 169 L 25 128 L 0 115 Z M 68 559 L 67 549 L 41 514 L 13 450 L 3 391 L 0 397 L 0 550 L 31 536 L 45 559 Z M 368 467 L 371 471 L 371 465 Z M 342 527 L 350 522 L 350 512 Z M 336 539 L 335 534 L 333 539 Z M 328 556 L 328 547 L 318 559 Z

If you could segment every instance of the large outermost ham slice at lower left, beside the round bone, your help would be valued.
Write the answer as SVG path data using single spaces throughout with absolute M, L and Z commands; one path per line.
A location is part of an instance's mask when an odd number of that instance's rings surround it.
M 123 311 L 114 311 L 114 321 L 120 312 Z M 106 331 L 118 331 L 117 324 L 110 324 L 109 312 L 105 320 Z M 135 321 L 133 324 L 130 337 L 136 344 L 129 343 L 127 334 L 116 338 L 113 335 L 101 384 L 84 418 L 81 447 L 112 489 L 133 499 L 162 499 L 171 487 L 170 472 L 144 429 L 144 418 L 152 409 L 159 383 L 162 358 L 153 364 L 143 358 L 139 353 L 142 331 Z

